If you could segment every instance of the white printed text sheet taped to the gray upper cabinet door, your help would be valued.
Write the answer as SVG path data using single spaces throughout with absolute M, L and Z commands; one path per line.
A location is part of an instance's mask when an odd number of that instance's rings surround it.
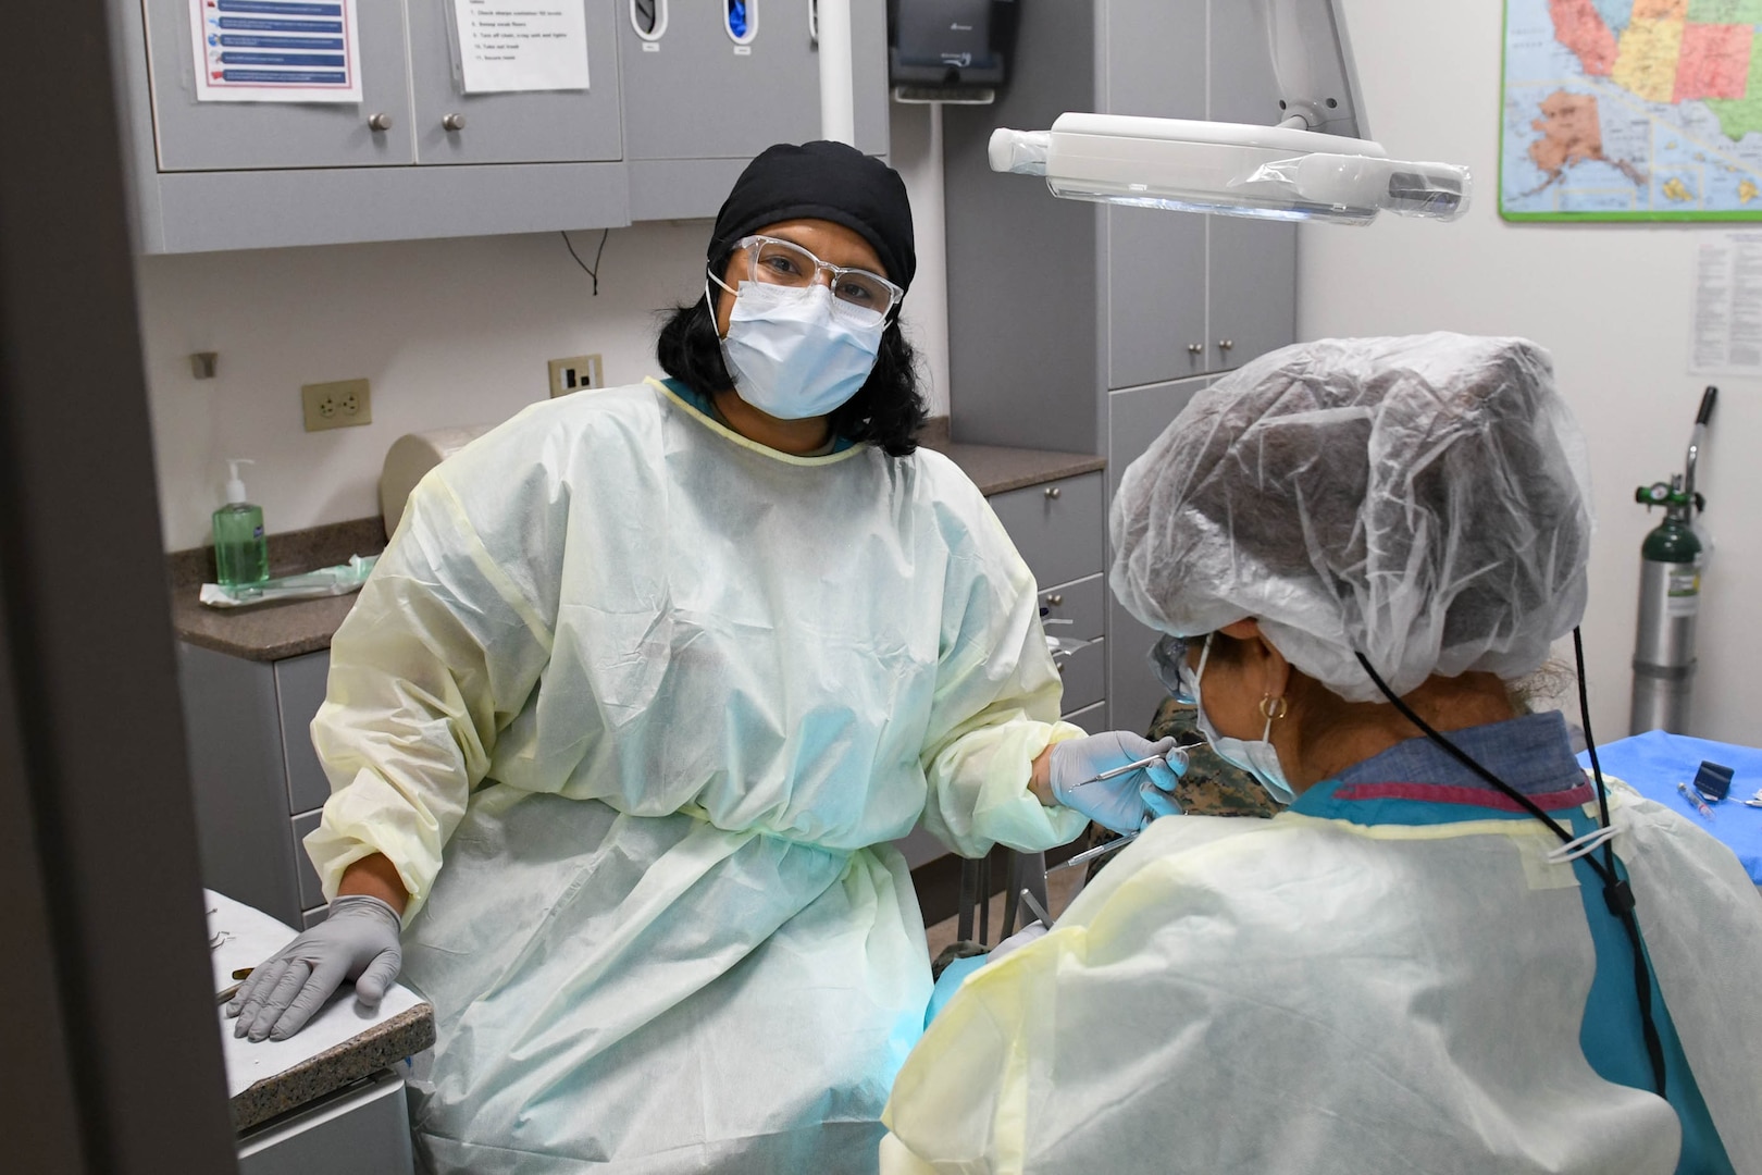
M 465 93 L 587 90 L 587 0 L 453 0 Z

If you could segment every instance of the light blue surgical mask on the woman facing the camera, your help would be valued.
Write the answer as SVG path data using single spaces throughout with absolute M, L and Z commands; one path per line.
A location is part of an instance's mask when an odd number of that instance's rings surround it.
M 742 282 L 722 361 L 742 400 L 766 416 L 800 421 L 826 416 L 862 389 L 885 329 L 883 315 L 839 303 L 819 282 Z

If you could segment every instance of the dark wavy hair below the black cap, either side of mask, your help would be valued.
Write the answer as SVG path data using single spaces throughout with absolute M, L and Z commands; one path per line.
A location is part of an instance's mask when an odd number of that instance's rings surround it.
M 708 296 L 664 314 L 668 317 L 655 342 L 661 370 L 700 396 L 733 388 Z M 881 352 L 869 379 L 832 412 L 832 432 L 848 440 L 867 440 L 888 456 L 907 456 L 918 447 L 916 433 L 927 419 L 930 410 L 918 389 L 918 352 L 895 319 L 881 335 Z

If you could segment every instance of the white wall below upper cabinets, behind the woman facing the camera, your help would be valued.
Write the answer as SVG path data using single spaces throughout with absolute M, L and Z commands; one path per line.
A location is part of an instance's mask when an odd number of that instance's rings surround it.
M 893 164 L 918 231 L 906 329 L 925 351 L 932 412 L 948 412 L 941 137 L 893 107 Z M 599 233 L 573 233 L 592 264 Z M 407 432 L 499 421 L 548 395 L 544 361 L 599 352 L 610 384 L 659 375 L 655 310 L 703 282 L 710 222 L 615 229 L 599 296 L 555 233 L 143 257 L 137 266 L 167 550 L 208 539 L 226 458 L 277 532 L 379 513 L 379 465 Z M 196 381 L 189 354 L 220 354 Z M 374 423 L 308 433 L 300 386 L 374 381 Z

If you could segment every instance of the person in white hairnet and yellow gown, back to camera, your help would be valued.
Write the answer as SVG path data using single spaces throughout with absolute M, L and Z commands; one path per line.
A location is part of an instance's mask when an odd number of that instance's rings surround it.
M 1512 682 L 1573 632 L 1579 430 L 1514 338 L 1198 393 L 1112 587 L 1290 807 L 1156 821 L 907 1059 L 883 1171 L 1762 1171 L 1762 902 Z

